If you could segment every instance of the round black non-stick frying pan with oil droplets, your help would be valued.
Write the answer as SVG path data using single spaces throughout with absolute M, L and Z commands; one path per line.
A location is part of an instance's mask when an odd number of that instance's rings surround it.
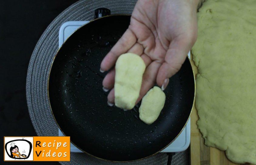
M 129 23 L 129 15 L 111 15 L 82 26 L 59 49 L 49 74 L 49 102 L 59 128 L 79 149 L 104 160 L 133 161 L 160 152 L 183 130 L 194 103 L 187 58 L 170 78 L 164 108 L 153 124 L 139 119 L 139 105 L 128 111 L 107 105 L 100 62 Z

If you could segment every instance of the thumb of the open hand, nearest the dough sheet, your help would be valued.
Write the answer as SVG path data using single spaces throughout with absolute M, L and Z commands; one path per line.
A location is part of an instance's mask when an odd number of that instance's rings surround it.
M 187 57 L 187 53 L 194 45 L 196 37 L 177 37 L 170 43 L 169 49 L 163 64 L 160 66 L 157 74 L 157 85 L 161 86 L 164 90 L 168 83 L 169 78 L 180 70 L 183 62 Z

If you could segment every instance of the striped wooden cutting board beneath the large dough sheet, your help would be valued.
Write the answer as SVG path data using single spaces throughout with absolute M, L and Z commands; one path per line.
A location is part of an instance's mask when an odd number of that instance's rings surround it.
M 191 63 L 195 75 L 197 74 L 197 67 L 194 64 L 192 55 Z M 204 138 L 197 128 L 197 109 L 195 105 L 191 114 L 191 139 L 190 139 L 190 161 L 191 165 L 237 165 L 227 159 L 225 152 L 213 147 L 204 145 Z M 252 165 L 245 163 L 243 165 Z

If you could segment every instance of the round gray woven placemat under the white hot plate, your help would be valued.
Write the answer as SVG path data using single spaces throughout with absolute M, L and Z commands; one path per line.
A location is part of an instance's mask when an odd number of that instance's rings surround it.
M 58 136 L 58 126 L 50 111 L 47 96 L 47 79 L 50 64 L 58 50 L 58 33 L 60 26 L 66 21 L 84 21 L 94 18 L 94 9 L 105 7 L 111 10 L 111 14 L 131 14 L 136 0 L 84 0 L 71 5 L 64 10 L 42 34 L 32 53 L 26 83 L 26 95 L 29 115 L 38 136 Z M 176 153 L 172 164 L 188 164 L 187 151 Z M 61 164 L 167 164 L 166 153 L 159 153 L 144 160 L 130 163 L 112 163 L 90 157 L 85 153 L 71 153 L 70 162 Z

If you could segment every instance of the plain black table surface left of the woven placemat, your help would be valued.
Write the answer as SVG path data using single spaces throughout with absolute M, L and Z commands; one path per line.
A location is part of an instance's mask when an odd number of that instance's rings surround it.
M 47 26 L 77 0 L 5 0 L 0 2 L 0 164 L 3 136 L 37 136 L 29 117 L 26 76 L 34 47 Z M 19 126 L 22 126 L 19 127 Z

